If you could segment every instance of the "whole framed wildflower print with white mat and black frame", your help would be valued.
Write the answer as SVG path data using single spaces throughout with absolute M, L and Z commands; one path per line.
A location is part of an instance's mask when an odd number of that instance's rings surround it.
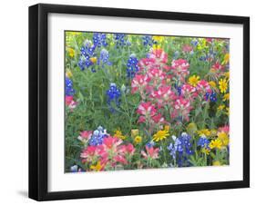
M 29 7 L 29 197 L 250 186 L 250 19 Z

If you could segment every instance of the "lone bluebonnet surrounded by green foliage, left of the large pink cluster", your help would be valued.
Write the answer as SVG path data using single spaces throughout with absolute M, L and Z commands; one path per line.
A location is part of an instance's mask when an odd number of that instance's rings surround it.
M 110 83 L 109 89 L 106 92 L 107 102 L 111 112 L 115 112 L 115 108 L 112 106 L 111 102 L 114 102 L 117 106 L 120 105 L 121 91 L 117 87 L 116 83 Z

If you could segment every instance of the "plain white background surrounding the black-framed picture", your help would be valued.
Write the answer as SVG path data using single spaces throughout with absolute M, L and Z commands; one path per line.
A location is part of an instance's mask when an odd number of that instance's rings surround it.
M 0 203 L 34 204 L 27 199 L 28 151 L 28 5 L 38 1 L 2 1 L 0 6 Z M 256 114 L 255 93 L 256 36 L 255 5 L 251 0 L 87 0 L 42 1 L 41 3 L 93 5 L 165 10 L 175 12 L 208 13 L 216 15 L 251 16 L 251 189 L 211 190 L 158 195 L 141 195 L 91 200 L 51 201 L 51 204 L 224 204 L 245 203 L 255 199 L 256 193 Z M 157 176 L 156 176 L 157 177 Z

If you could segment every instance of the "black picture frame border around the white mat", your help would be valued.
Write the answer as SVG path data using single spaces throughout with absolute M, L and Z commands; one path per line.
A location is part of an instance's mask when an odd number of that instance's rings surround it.
M 102 190 L 47 190 L 47 16 L 50 13 L 166 19 L 243 25 L 243 180 L 156 185 Z M 231 173 L 230 173 L 231 174 Z M 32 5 L 29 7 L 29 198 L 67 200 L 191 190 L 250 187 L 250 18 L 230 15 L 199 15 L 161 11 L 76 5 Z

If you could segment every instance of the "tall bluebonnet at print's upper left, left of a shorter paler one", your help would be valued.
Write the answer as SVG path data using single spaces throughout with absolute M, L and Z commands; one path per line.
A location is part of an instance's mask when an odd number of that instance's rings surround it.
M 80 67 L 81 71 L 84 71 L 85 68 L 93 65 L 94 62 L 92 59 L 95 58 L 95 48 L 96 46 L 92 44 L 90 41 L 86 40 L 84 45 L 80 49 L 80 58 L 78 61 L 78 66 Z M 92 72 L 95 72 L 93 68 L 91 68 Z

